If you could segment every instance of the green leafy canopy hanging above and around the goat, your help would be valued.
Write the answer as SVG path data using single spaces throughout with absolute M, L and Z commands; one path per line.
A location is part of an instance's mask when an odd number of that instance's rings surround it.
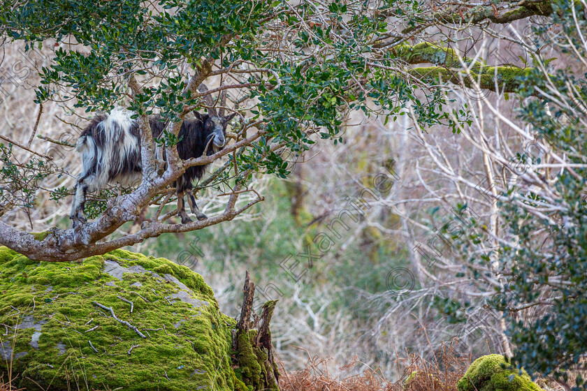
M 87 54 L 57 50 L 54 63 L 41 71 L 43 84 L 37 90 L 38 103 L 60 99 L 65 94 L 75 96 L 75 105 L 87 111 L 109 110 L 126 93 L 131 75 L 145 75 L 161 78 L 161 82 L 134 96 L 129 108 L 137 114 L 160 112 L 174 120 L 186 105 L 199 103 L 191 93 L 182 92 L 188 80 L 182 68 L 186 63 L 198 69 L 203 59 L 211 58 L 219 59 L 222 66 L 247 61 L 274 70 L 280 78 L 278 88 L 273 76 L 249 76 L 252 85 L 246 93 L 250 98 L 259 98 L 259 105 L 252 112 L 263 115 L 261 127 L 267 134 L 252 148 L 237 154 L 238 166 L 245 170 L 285 177 L 289 174 L 287 163 L 280 154 L 269 152 L 270 142 L 284 142 L 292 155 L 299 154 L 314 143 L 308 137 L 309 128 L 314 128 L 321 138 L 339 142 L 339 128 L 347 110 L 370 114 L 368 99 L 378 106 L 375 112 L 388 117 L 403 115 L 407 105 L 411 105 L 423 126 L 445 124 L 455 128 L 454 120 L 444 112 L 451 101 L 436 87 L 418 87 L 420 93 L 416 94 L 410 78 L 394 68 L 398 64 L 396 55 L 384 54 L 377 60 L 376 68 L 365 68 L 363 54 L 372 51 L 369 41 L 386 32 L 385 13 L 404 7 L 403 3 L 392 1 L 369 14 L 347 9 L 336 1 L 331 3 L 333 24 L 324 29 L 315 24 L 314 38 L 300 31 L 294 42 L 296 54 L 303 54 L 307 45 L 319 45 L 322 50 L 316 57 L 297 64 L 263 52 L 259 34 L 270 20 L 287 26 L 307 23 L 317 13 L 309 4 L 298 6 L 304 20 L 300 20 L 298 13 L 285 12 L 288 8 L 280 1 L 161 0 L 158 6 L 163 11 L 155 11 L 138 0 L 43 0 L 2 6 L 0 21 L 10 38 L 24 40 L 27 47 L 41 45 L 47 38 L 59 43 L 73 37 L 89 49 Z M 416 7 L 410 15 L 416 11 L 421 10 Z M 340 25 L 345 17 L 349 19 L 349 29 Z M 345 39 L 336 40 L 332 33 Z M 221 44 L 223 39 L 225 43 Z M 349 88 L 363 78 L 368 79 L 364 88 Z M 466 110 L 455 113 L 459 121 L 469 120 Z M 171 146 L 177 140 L 166 136 L 159 142 Z M 226 179 L 220 176 L 217 183 Z M 248 178 L 235 180 L 242 183 Z

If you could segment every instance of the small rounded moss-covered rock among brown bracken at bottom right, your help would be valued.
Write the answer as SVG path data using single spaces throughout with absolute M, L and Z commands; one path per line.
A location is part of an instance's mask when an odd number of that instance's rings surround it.
M 542 391 L 526 371 L 520 375 L 502 355 L 474 360 L 456 385 L 458 391 Z

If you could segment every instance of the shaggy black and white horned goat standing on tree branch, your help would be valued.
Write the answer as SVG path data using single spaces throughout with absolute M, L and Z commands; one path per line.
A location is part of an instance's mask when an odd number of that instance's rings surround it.
M 205 89 L 205 87 L 204 87 Z M 222 94 L 224 106 L 224 94 Z M 212 98 L 206 96 L 206 103 L 211 107 Z M 88 192 L 103 189 L 106 184 L 122 184 L 129 186 L 140 183 L 142 178 L 142 164 L 140 161 L 140 129 L 137 121 L 131 118 L 132 112 L 115 109 L 110 115 L 98 115 L 85 128 L 78 139 L 75 151 L 82 158 L 82 172 L 75 184 L 75 198 L 71 207 L 73 227 L 80 222 L 87 221 L 84 215 L 84 204 Z M 196 119 L 185 119 L 180 129 L 180 141 L 177 142 L 177 152 L 182 159 L 198 158 L 206 152 L 212 155 L 226 145 L 226 125 L 235 114 L 224 117 L 224 109 L 216 112 L 208 108 L 207 115 L 194 111 Z M 166 121 L 159 115 L 149 118 L 154 138 L 159 138 L 166 127 Z M 212 145 L 210 146 L 210 140 Z M 177 214 L 182 224 L 191 222 L 185 212 L 184 193 L 191 212 L 198 220 L 205 220 L 194 197 L 194 178 L 201 179 L 206 165 L 196 165 L 185 170 L 177 179 Z

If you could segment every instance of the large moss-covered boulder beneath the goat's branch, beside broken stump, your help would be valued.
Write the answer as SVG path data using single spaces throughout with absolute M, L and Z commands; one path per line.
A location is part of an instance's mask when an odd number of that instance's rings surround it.
M 0 374 L 12 366 L 28 391 L 252 388 L 233 369 L 235 320 L 199 274 L 164 258 L 47 263 L 0 247 L 0 292 Z

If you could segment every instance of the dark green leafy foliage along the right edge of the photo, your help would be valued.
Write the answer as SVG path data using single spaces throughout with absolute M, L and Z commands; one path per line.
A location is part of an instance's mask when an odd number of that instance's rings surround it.
M 581 45 L 570 7 L 573 3 L 557 4 L 560 13 L 555 22 L 565 30 L 581 54 Z M 576 7 L 579 28 L 585 31 L 587 17 L 585 10 Z M 544 44 L 556 44 L 557 38 L 543 34 Z M 581 49 L 582 47 L 582 49 Z M 570 47 L 563 52 L 574 57 Z M 586 75 L 574 75 L 572 71 L 557 71 L 551 82 L 567 101 L 563 104 L 546 97 L 532 99 L 522 105 L 520 117 L 548 140 L 553 149 L 565 152 L 570 163 L 586 163 L 577 154 L 584 150 L 587 142 L 585 114 L 587 106 Z M 572 87 L 571 87 L 572 86 Z M 546 89 L 540 75 L 535 71 L 524 80 L 521 94 L 528 96 L 537 89 Z M 547 107 L 548 106 L 548 107 Z M 550 111 L 547 112 L 547 110 Z M 562 195 L 557 200 L 561 208 L 546 214 L 548 219 L 539 219 L 528 214 L 523 208 L 502 205 L 507 225 L 519 237 L 519 249 L 503 248 L 500 258 L 511 267 L 507 293 L 504 295 L 507 307 L 517 308 L 525 303 L 543 300 L 541 293 L 549 293 L 549 307 L 544 316 L 532 323 L 510 318 L 512 341 L 518 348 L 514 361 L 528 371 L 549 374 L 567 380 L 566 369 L 579 362 L 587 351 L 587 209 L 585 168 L 574 169 L 576 175 L 565 170 L 553 185 Z M 535 202 L 540 202 L 535 198 Z M 532 207 L 530 202 L 528 206 Z M 535 240 L 535 233 L 549 232 L 544 242 Z M 514 316 L 514 313 L 512 313 Z M 586 388 L 584 379 L 577 378 L 577 388 Z

